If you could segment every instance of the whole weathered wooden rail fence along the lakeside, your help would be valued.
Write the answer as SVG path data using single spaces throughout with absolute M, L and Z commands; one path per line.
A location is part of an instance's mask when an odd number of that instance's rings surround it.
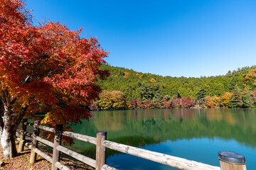
M 26 131 L 26 126 L 30 125 L 33 126 L 33 134 Z M 39 137 L 39 130 L 46 130 L 48 132 L 55 133 L 54 142 L 50 142 L 48 140 L 43 139 L 42 137 Z M 68 170 L 67 166 L 64 166 L 60 163 L 60 152 L 63 152 L 64 154 L 69 155 L 70 157 L 73 157 L 77 159 L 80 162 L 83 162 L 87 165 L 90 165 L 94 167 L 96 170 L 114 170 L 115 168 L 112 166 L 108 166 L 106 164 L 106 148 L 114 149 L 116 151 L 131 154 L 136 157 L 141 157 L 144 159 L 149 159 L 153 162 L 158 162 L 160 164 L 165 164 L 167 166 L 172 166 L 177 169 L 185 169 L 185 170 L 245 170 L 245 158 L 240 159 L 242 160 L 242 163 L 240 164 L 233 164 L 233 162 L 228 160 L 225 161 L 225 155 L 223 157 L 220 157 L 220 167 L 218 166 L 212 166 L 209 164 L 203 164 L 201 162 L 194 162 L 188 159 L 183 159 L 180 157 L 173 157 L 171 155 L 167 154 L 161 154 L 158 152 L 152 152 L 146 149 L 140 149 L 137 147 L 132 147 L 129 145 L 123 145 L 116 142 L 111 142 L 107 140 L 107 132 L 106 131 L 99 131 L 97 132 L 97 137 L 90 137 L 87 135 L 81 135 L 75 132 L 68 132 L 63 131 L 63 125 L 56 125 L 55 128 L 48 128 L 43 125 L 39 125 L 39 121 L 35 121 L 34 123 L 28 123 L 27 120 L 23 120 L 21 130 L 19 130 L 19 146 L 18 146 L 18 152 L 23 151 L 24 145 L 26 147 L 31 149 L 31 157 L 30 157 L 30 163 L 33 164 L 36 162 L 36 154 L 41 155 L 44 159 L 48 160 L 48 162 L 52 163 L 52 170 L 55 169 L 64 169 Z M 32 142 L 25 142 L 25 136 L 28 135 L 32 137 Z M 85 142 L 92 143 L 96 145 L 96 160 L 91 159 L 90 157 L 85 157 L 82 154 L 79 154 L 78 152 L 75 152 L 71 149 L 68 149 L 66 147 L 63 147 L 61 145 L 62 136 L 72 137 L 78 140 L 82 140 Z M 48 145 L 50 147 L 53 147 L 53 157 L 50 157 L 48 154 L 42 152 L 40 149 L 38 149 L 38 142 L 42 142 L 45 145 Z M 228 157 L 227 157 L 228 158 Z

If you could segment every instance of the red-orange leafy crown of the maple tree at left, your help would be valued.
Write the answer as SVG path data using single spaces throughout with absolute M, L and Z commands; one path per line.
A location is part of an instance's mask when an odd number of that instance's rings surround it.
M 95 81 L 108 75 L 99 69 L 108 52 L 96 38 L 81 38 L 81 28 L 51 21 L 33 26 L 23 1 L 0 4 L 1 104 L 8 118 L 0 118 L 1 131 L 16 130 L 24 115 L 44 114 L 41 123 L 51 126 L 89 119 L 86 106 L 100 93 Z

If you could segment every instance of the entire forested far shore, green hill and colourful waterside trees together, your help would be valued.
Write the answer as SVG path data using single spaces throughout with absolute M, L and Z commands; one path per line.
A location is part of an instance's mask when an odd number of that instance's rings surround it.
M 255 108 L 256 66 L 215 77 L 162 77 L 103 65 L 111 76 L 100 80 L 102 93 L 92 111 L 137 108 Z M 177 71 L 178 72 L 178 71 Z

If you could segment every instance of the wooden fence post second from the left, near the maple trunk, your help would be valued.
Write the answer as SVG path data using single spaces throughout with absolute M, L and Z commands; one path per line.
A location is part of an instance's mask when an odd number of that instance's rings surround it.
M 36 149 L 38 147 L 38 141 L 36 140 L 36 136 L 39 135 L 39 123 L 40 121 L 39 120 L 36 120 L 33 124 L 33 139 L 32 139 L 32 147 L 31 147 L 31 157 L 30 157 L 30 160 L 29 162 L 31 164 L 35 163 L 36 162 L 36 152 L 34 152 L 33 149 Z

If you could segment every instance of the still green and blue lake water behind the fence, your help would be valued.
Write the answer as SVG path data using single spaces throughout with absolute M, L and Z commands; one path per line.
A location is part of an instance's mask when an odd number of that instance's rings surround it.
M 219 166 L 218 152 L 243 154 L 247 169 L 256 169 L 256 109 L 152 109 L 95 111 L 88 122 L 73 127 L 107 140 Z M 74 140 L 73 149 L 95 159 L 95 146 Z M 174 169 L 107 149 L 107 164 L 117 169 Z

